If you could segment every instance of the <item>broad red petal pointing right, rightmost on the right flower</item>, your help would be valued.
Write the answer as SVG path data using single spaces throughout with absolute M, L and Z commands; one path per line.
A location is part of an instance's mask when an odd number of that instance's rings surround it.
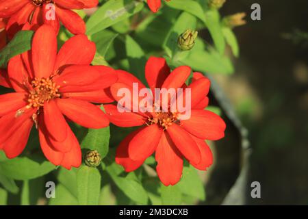
M 220 116 L 208 110 L 192 110 L 189 120 L 181 120 L 183 128 L 192 135 L 206 140 L 224 137 L 226 124 Z

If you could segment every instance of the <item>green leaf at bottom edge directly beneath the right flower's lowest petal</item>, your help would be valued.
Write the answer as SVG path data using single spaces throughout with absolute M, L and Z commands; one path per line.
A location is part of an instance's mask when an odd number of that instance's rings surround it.
M 160 190 L 163 205 L 181 205 L 181 191 L 177 185 L 162 184 Z

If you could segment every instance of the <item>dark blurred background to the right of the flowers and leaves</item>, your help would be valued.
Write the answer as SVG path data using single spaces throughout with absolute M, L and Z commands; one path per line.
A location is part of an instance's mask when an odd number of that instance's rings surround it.
M 253 3 L 261 5 L 261 21 L 251 20 Z M 308 1 L 236 0 L 221 9 L 223 15 L 236 12 L 246 12 L 248 23 L 235 29 L 235 74 L 214 76 L 248 130 L 252 149 L 244 190 L 235 190 L 235 198 L 242 195 L 250 205 L 307 205 Z M 242 140 L 234 137 L 239 131 L 232 124 L 216 145 L 208 205 L 224 201 L 243 167 Z M 261 198 L 251 198 L 253 181 L 261 183 Z

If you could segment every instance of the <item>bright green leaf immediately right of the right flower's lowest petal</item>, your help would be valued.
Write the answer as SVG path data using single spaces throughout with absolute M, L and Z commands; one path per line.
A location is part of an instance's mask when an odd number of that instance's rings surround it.
M 177 183 L 182 194 L 194 196 L 201 201 L 205 201 L 205 190 L 198 173 L 192 166 L 184 166 L 183 177 Z

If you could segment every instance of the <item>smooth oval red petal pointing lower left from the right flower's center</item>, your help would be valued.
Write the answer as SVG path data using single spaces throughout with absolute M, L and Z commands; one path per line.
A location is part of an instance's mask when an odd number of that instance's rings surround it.
M 140 129 L 129 143 L 129 157 L 133 160 L 144 160 L 157 148 L 163 130 L 158 125 Z

